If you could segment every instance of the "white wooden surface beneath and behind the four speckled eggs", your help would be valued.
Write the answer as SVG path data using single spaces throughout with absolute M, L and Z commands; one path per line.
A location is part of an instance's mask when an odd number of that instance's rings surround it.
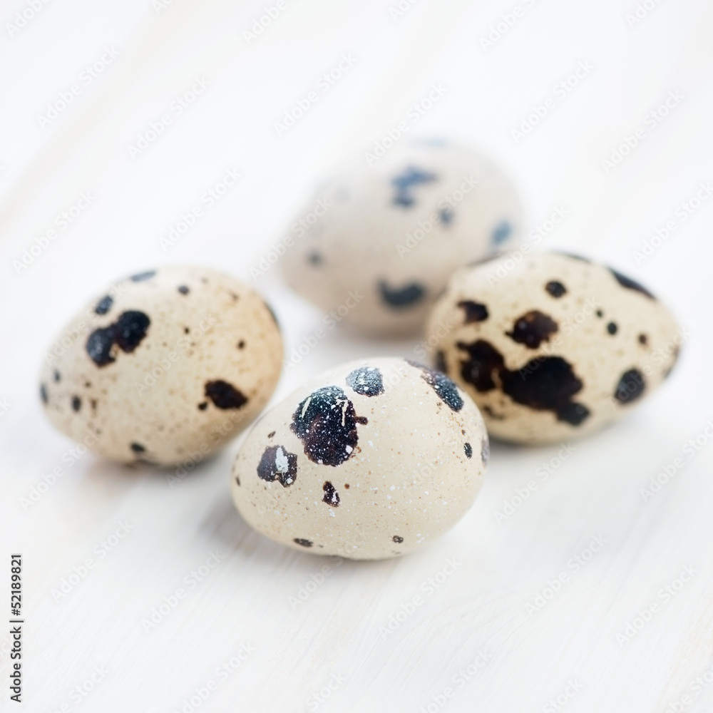
M 158 11 L 150 0 L 53 0 L 12 36 L 6 23 L 27 3 L 0 9 L 0 532 L 4 556 L 24 555 L 26 616 L 25 702 L 7 700 L 4 624 L 0 708 L 713 709 L 713 441 L 704 434 L 713 419 L 713 201 L 687 220 L 676 212 L 713 180 L 712 6 L 647 0 L 653 9 L 630 26 L 634 0 L 522 0 L 521 16 L 484 51 L 481 37 L 514 1 L 411 0 L 392 17 L 396 0 L 287 0 L 247 43 L 243 31 L 269 2 L 165 0 Z M 105 48 L 118 56 L 86 83 L 83 68 Z M 354 65 L 278 136 L 274 122 L 344 54 Z M 593 71 L 556 96 L 580 61 Z M 195 78 L 209 86 L 179 116 L 171 104 Z M 81 92 L 41 128 L 46 104 L 74 83 Z M 240 441 L 173 487 L 163 471 L 91 455 L 70 464 L 73 446 L 43 419 L 36 384 L 63 322 L 111 279 L 167 261 L 250 280 L 329 164 L 373 146 L 433 83 L 447 91 L 412 133 L 486 149 L 520 185 L 533 228 L 555 206 L 567 212 L 543 245 L 606 260 L 670 302 L 687 339 L 660 392 L 573 443 L 547 478 L 560 446 L 494 445 L 461 523 L 428 550 L 385 562 L 324 561 L 252 533 L 227 488 Z M 670 92 L 683 98 L 651 128 L 645 116 Z M 548 97 L 554 108 L 516 143 L 511 128 Z M 128 145 L 165 113 L 172 123 L 132 159 Z M 637 128 L 644 137 L 607 173 L 602 159 Z M 232 167 L 240 184 L 162 250 L 160 237 Z M 16 274 L 12 261 L 82 192 L 91 206 Z M 633 252 L 667 220 L 676 230 L 637 264 Z M 322 316 L 276 272 L 255 284 L 275 305 L 289 351 Z M 414 346 L 335 329 L 284 374 L 275 399 L 344 359 L 411 355 Z M 697 436 L 689 458 L 683 449 Z M 684 468 L 645 501 L 642 488 L 677 457 Z M 57 466 L 61 478 L 23 504 Z M 523 488 L 528 498 L 496 518 Z M 108 540 L 122 525 L 123 536 Z M 593 538 L 601 544 L 589 558 Z M 87 558 L 93 567 L 73 576 Z M 674 589 L 686 567 L 694 575 Z M 6 620 L 8 565 L 1 570 Z M 178 588 L 185 596 L 173 600 Z M 538 594 L 550 597 L 542 607 Z M 175 607 L 143 625 L 167 599 Z M 638 621 L 654 603 L 650 620 Z M 635 620 L 635 636 L 617 638 Z M 191 704 L 200 693 L 205 700 Z

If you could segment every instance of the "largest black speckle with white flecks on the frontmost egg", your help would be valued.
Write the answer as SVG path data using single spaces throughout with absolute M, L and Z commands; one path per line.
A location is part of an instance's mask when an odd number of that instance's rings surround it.
M 359 441 L 354 404 L 339 386 L 312 391 L 292 414 L 290 428 L 302 441 L 304 455 L 326 466 L 344 463 Z

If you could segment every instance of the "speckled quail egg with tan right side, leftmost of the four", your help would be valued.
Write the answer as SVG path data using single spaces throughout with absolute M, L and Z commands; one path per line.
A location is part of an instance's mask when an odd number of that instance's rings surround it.
M 201 460 L 270 399 L 282 338 L 270 307 L 205 267 L 161 267 L 98 295 L 45 354 L 50 421 L 116 461 Z

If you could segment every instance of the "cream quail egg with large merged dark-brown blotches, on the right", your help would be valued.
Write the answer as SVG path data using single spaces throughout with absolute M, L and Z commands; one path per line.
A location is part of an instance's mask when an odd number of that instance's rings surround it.
M 616 270 L 518 252 L 456 272 L 423 344 L 491 436 L 553 443 L 627 414 L 669 374 L 683 339 L 667 307 Z

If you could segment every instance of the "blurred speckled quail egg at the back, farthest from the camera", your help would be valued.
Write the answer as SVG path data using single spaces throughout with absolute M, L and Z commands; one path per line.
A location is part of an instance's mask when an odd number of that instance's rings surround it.
M 473 150 L 404 141 L 347 163 L 304 207 L 285 239 L 287 282 L 343 324 L 415 334 L 457 267 L 522 230 L 508 177 Z

